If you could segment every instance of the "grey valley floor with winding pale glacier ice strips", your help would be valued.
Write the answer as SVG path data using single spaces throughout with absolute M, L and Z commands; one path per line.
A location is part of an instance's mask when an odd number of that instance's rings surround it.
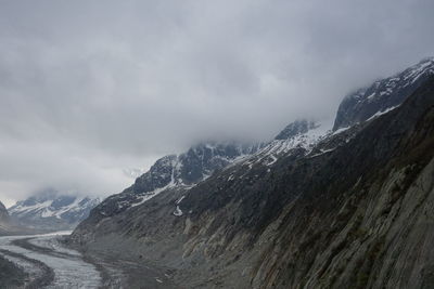
M 68 232 L 0 237 L 4 288 L 175 288 L 145 265 L 84 255 L 63 246 Z M 4 271 L 3 271 L 4 270 Z M 4 276 L 3 276 L 4 275 Z

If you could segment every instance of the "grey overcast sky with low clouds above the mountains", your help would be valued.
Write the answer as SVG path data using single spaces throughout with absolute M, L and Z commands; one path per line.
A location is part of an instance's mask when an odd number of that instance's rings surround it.
M 434 54 L 432 0 L 0 1 L 0 200 L 110 195 Z

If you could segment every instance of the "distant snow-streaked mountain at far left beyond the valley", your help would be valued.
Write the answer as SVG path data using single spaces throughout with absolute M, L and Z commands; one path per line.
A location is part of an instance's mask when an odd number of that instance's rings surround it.
M 17 201 L 9 208 L 11 218 L 27 227 L 39 229 L 71 229 L 85 220 L 99 198 L 61 195 L 53 189 Z

